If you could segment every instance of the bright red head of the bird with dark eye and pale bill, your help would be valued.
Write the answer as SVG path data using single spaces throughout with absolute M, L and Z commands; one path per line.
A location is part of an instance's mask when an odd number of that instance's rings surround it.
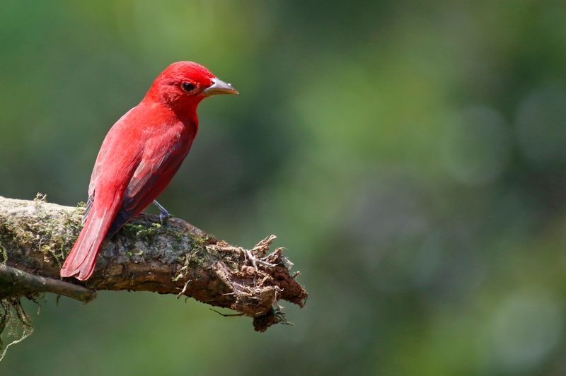
M 238 90 L 200 64 L 178 61 L 157 76 L 146 98 L 173 110 L 194 110 L 201 100 L 215 94 L 238 94 Z

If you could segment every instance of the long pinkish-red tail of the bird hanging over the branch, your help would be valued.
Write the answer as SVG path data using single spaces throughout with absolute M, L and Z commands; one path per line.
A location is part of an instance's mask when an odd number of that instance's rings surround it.
M 61 268 L 62 277 L 78 274 L 76 278 L 85 281 L 93 274 L 98 249 L 106 237 L 114 216 L 115 213 L 108 209 L 95 210 L 88 216 L 81 235 Z

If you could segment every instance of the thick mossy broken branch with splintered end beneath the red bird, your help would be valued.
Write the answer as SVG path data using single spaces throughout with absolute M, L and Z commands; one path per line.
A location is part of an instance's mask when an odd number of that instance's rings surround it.
M 275 236 L 252 249 L 229 245 L 182 221 L 141 214 L 98 254 L 88 281 L 59 277 L 81 230 L 82 207 L 0 196 L 0 300 L 51 292 L 88 302 L 98 290 L 154 291 L 192 297 L 253 317 L 258 331 L 286 322 L 279 300 L 303 307 L 307 293 Z M 252 261 L 253 258 L 257 261 Z

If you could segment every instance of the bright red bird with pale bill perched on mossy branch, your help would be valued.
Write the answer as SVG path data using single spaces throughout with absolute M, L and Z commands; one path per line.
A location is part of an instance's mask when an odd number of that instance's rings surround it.
M 61 269 L 84 281 L 93 274 L 100 245 L 163 191 L 197 136 L 197 105 L 214 94 L 237 94 L 204 66 L 168 66 L 136 107 L 106 135 L 88 186 L 84 227 Z M 157 201 L 155 201 L 157 204 Z M 157 204 L 162 215 L 168 215 Z

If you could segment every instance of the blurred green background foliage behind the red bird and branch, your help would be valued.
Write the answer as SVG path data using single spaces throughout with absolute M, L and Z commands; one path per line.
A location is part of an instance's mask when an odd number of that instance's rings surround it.
M 255 333 L 195 301 L 54 296 L 1 375 L 564 375 L 560 1 L 2 1 L 0 195 L 74 205 L 172 61 L 200 105 L 161 195 L 311 294 Z M 151 208 L 151 211 L 154 209 Z

